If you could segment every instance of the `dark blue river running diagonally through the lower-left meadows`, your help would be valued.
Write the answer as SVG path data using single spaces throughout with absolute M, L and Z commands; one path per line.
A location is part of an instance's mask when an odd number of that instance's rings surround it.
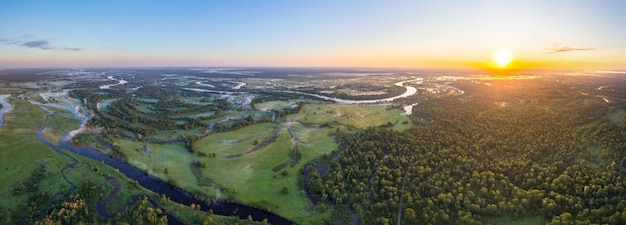
M 206 201 L 196 198 L 192 193 L 182 188 L 172 187 L 167 182 L 157 177 L 147 175 L 144 171 L 132 166 L 128 162 L 125 162 L 118 158 L 113 158 L 109 156 L 108 154 L 103 153 L 91 146 L 75 147 L 70 144 L 71 138 L 74 135 L 82 132 L 82 129 L 84 128 L 85 123 L 87 123 L 87 121 L 91 119 L 91 116 L 84 116 L 78 112 L 77 108 L 73 108 L 69 106 L 51 104 L 51 103 L 43 104 L 43 103 L 39 103 L 39 102 L 32 101 L 32 100 L 30 101 L 30 103 L 39 105 L 42 108 L 44 108 L 43 106 L 47 106 L 47 107 L 54 107 L 54 108 L 69 111 L 74 115 L 75 118 L 81 121 L 81 125 L 76 130 L 70 131 L 64 134 L 61 138 L 59 138 L 59 146 L 53 145 L 41 135 L 41 132 L 43 129 L 41 129 L 37 135 L 37 138 L 39 139 L 39 141 L 50 146 L 57 153 L 68 156 L 69 158 L 73 159 L 72 161 L 74 161 L 75 159 L 71 157 L 70 155 L 66 154 L 65 152 L 63 152 L 61 149 L 66 149 L 68 151 L 74 152 L 76 154 L 79 154 L 81 156 L 84 156 L 84 157 L 87 157 L 96 161 L 103 162 L 107 164 L 108 166 L 118 169 L 122 174 L 126 175 L 126 177 L 138 181 L 139 184 L 145 187 L 146 189 L 151 190 L 159 195 L 165 194 L 174 202 L 178 202 L 184 205 L 191 205 L 193 203 L 193 204 L 199 205 L 200 208 L 204 211 L 213 210 L 213 212 L 218 215 L 237 216 L 241 219 L 246 219 L 248 215 L 251 215 L 252 218 L 255 218 L 256 220 L 267 218 L 268 222 L 270 222 L 271 224 L 294 224 L 293 222 L 281 216 L 278 216 L 276 214 L 270 213 L 265 210 L 257 209 L 254 207 L 238 204 L 238 203 L 232 203 L 232 202 L 227 202 L 227 201 L 222 201 L 222 200 L 217 200 L 213 203 L 207 203 Z M 48 111 L 49 113 L 52 112 L 49 110 L 46 110 L 46 111 Z M 71 163 L 70 165 L 68 165 L 68 167 L 73 168 L 74 167 L 73 164 L 74 163 Z M 71 184 L 71 182 L 69 183 Z

